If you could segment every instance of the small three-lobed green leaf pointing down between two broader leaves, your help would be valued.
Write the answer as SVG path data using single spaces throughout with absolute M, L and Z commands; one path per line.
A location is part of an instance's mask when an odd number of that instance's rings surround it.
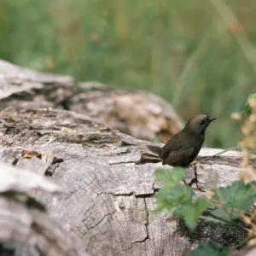
M 174 212 L 176 216 L 183 216 L 185 223 L 190 230 L 194 230 L 197 224 L 198 218 L 201 213 L 204 212 L 210 203 L 207 201 L 206 197 L 200 197 L 195 201 L 195 203 L 189 203 L 177 208 Z

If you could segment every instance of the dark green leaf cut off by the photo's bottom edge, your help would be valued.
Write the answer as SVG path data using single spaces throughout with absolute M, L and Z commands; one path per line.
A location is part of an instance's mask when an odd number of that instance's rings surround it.
M 215 247 L 213 242 L 210 240 L 207 243 L 200 245 L 195 250 L 193 250 L 189 256 L 226 256 L 230 253 L 230 248 L 222 247 L 218 248 Z

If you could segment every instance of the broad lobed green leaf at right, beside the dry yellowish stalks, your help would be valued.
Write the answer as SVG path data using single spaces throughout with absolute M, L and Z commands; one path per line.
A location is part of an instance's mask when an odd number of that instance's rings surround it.
M 212 211 L 212 214 L 229 220 L 237 218 L 239 211 L 246 212 L 255 199 L 256 194 L 249 184 L 233 182 L 230 186 L 215 191 L 213 200 L 221 203 L 223 207 Z

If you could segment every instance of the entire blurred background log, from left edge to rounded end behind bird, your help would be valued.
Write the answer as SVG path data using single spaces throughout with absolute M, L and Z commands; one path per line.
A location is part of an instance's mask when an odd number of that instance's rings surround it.
M 132 137 L 160 142 L 177 133 L 183 122 L 172 105 L 138 90 L 118 90 L 73 78 L 38 73 L 0 60 L 0 109 L 62 108 L 99 119 Z

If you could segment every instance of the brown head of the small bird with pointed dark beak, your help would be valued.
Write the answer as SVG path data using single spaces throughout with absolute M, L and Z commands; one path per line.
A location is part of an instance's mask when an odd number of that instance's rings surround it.
M 189 129 L 195 134 L 203 134 L 207 130 L 207 127 L 215 119 L 217 118 L 210 118 L 206 114 L 198 114 L 189 119 L 185 129 Z

